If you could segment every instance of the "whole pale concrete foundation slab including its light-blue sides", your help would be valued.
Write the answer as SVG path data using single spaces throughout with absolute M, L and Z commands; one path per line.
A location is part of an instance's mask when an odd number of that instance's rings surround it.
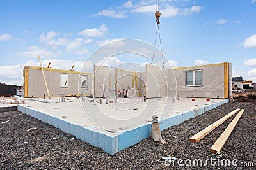
M 92 101 L 93 100 L 93 101 Z M 109 99 L 113 101 L 113 99 Z M 26 104 L 18 104 L 17 110 L 38 118 L 76 138 L 102 148 L 113 155 L 131 145 L 148 138 L 151 132 L 151 117 L 159 115 L 161 130 L 180 124 L 189 118 L 211 110 L 228 99 L 179 98 L 172 97 L 147 99 L 140 97 L 118 98 L 118 103 L 100 104 L 99 99 L 65 97 L 33 99 Z

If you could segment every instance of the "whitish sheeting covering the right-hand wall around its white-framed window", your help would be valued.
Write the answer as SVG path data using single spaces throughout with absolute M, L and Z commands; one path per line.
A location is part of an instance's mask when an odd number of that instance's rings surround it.
M 231 64 L 229 66 L 229 81 L 231 82 Z M 186 85 L 186 72 L 202 70 L 202 85 Z M 177 80 L 177 95 L 180 97 L 225 98 L 224 63 L 209 64 L 195 67 L 169 69 L 174 71 Z

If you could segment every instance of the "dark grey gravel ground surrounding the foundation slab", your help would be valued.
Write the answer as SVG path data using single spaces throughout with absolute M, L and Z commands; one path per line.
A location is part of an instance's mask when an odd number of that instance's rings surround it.
M 207 125 L 236 108 L 245 111 L 221 150 L 217 159 L 209 152 L 218 136 L 236 116 L 232 116 L 198 143 L 189 138 Z M 74 136 L 44 124 L 19 111 L 0 113 L 0 168 L 1 169 L 256 169 L 256 103 L 226 103 L 196 118 L 187 120 L 162 132 L 166 143 L 156 143 L 149 137 L 111 156 Z M 6 122 L 7 121 L 7 122 Z M 162 156 L 177 160 L 164 165 Z M 191 166 L 189 159 L 192 161 Z M 202 160 L 203 166 L 193 165 Z M 206 162 L 206 159 L 215 159 Z M 221 160 L 230 160 L 230 166 L 221 166 Z M 232 166 L 232 160 L 237 166 Z M 218 163 L 218 160 L 220 162 Z M 249 166 L 250 162 L 253 167 Z M 167 162 L 168 163 L 168 162 Z M 215 163 L 215 166 L 214 166 Z M 206 164 L 206 165 L 205 165 Z

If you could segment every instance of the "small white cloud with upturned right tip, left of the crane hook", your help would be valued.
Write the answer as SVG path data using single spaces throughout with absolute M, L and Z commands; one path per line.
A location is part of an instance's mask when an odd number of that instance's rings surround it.
M 79 32 L 78 34 L 81 36 L 86 37 L 102 37 L 106 32 L 108 31 L 108 27 L 106 27 L 105 24 L 102 24 L 99 29 L 93 28 L 93 29 L 84 29 L 83 31 Z

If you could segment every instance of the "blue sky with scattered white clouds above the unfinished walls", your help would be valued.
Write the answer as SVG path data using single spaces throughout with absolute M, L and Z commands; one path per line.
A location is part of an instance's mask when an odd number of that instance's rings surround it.
M 175 67 L 232 62 L 232 76 L 256 81 L 256 0 L 163 0 L 159 5 L 163 52 Z M 22 68 L 38 66 L 38 54 L 44 66 L 74 64 L 80 71 L 90 53 L 109 41 L 154 44 L 155 11 L 154 0 L 1 0 L 0 82 L 20 85 Z M 108 64 L 122 62 L 114 57 Z

